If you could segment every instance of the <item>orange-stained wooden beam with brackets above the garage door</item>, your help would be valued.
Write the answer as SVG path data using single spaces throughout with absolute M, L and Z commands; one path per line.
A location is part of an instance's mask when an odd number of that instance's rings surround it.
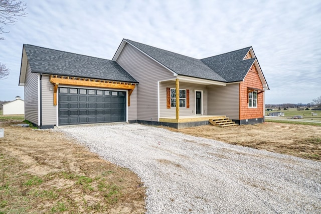
M 87 87 L 101 87 L 101 88 L 115 88 L 128 90 L 128 106 L 130 105 L 129 96 L 135 89 L 136 84 L 130 82 L 102 80 L 92 78 L 82 78 L 74 76 L 58 76 L 51 75 L 50 82 L 54 84 L 54 105 L 57 105 L 57 88 L 59 84 L 87 86 Z

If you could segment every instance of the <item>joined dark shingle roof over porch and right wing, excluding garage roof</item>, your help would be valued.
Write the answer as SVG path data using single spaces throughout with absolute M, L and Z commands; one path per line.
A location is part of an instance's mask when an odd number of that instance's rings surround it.
M 179 75 L 222 82 L 243 80 L 255 60 L 255 58 L 243 60 L 251 47 L 204 59 L 196 59 L 129 39 L 124 40 Z

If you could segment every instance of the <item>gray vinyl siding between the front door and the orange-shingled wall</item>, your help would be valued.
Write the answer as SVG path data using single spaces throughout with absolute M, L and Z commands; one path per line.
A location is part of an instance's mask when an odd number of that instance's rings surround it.
M 239 83 L 208 86 L 208 113 L 239 119 Z

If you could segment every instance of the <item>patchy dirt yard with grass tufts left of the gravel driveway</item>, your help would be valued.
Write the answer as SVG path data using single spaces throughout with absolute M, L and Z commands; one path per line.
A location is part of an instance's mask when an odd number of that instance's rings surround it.
M 61 132 L 8 122 L 0 128 L 0 213 L 145 212 L 145 189 L 128 169 Z

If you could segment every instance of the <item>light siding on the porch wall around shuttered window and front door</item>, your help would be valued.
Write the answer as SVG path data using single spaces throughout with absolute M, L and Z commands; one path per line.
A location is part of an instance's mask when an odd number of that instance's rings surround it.
M 166 88 L 175 88 L 175 81 L 166 81 L 159 84 L 159 117 L 173 117 L 176 116 L 176 107 L 167 108 L 167 97 Z M 202 92 L 202 105 L 203 105 L 203 115 L 207 115 L 207 89 L 206 85 L 193 84 L 189 82 L 180 81 L 180 89 L 190 90 L 190 107 L 180 107 L 180 116 L 193 116 L 196 115 L 196 92 Z M 194 90 L 194 92 L 193 92 Z

